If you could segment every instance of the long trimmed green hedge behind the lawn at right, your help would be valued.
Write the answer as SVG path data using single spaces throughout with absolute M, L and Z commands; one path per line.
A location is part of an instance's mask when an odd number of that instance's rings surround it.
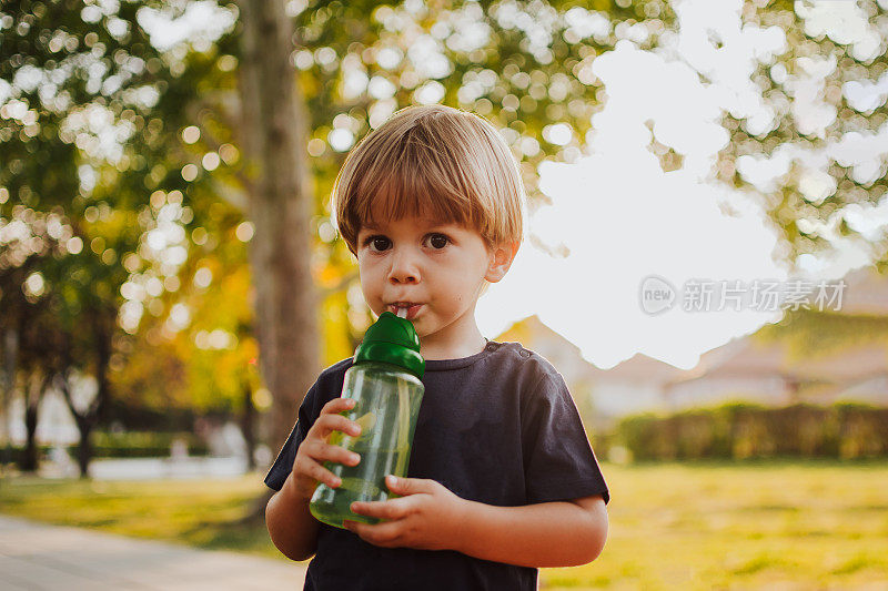
M 637 461 L 888 456 L 888 408 L 854 403 L 770 408 L 731 403 L 670 416 L 624 418 L 609 445 Z M 601 452 L 601 451 L 599 451 Z

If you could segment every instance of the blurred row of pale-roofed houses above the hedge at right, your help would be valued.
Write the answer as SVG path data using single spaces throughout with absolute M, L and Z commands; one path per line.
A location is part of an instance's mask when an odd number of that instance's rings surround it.
M 887 276 L 864 267 L 844 281 L 839 313 L 888 318 Z M 591 430 L 606 430 L 637 412 L 672 412 L 738 399 L 766 406 L 838 400 L 888 406 L 888 345 L 861 343 L 795 359 L 788 345 L 761 343 L 753 334 L 705 353 L 685 370 L 643 354 L 601 369 L 536 316 L 515 323 L 496 340 L 517 340 L 548 359 L 564 376 Z

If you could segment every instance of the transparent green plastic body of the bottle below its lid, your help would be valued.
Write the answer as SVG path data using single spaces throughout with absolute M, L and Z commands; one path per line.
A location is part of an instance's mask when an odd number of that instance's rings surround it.
M 357 437 L 334 431 L 329 442 L 359 454 L 361 461 L 357 466 L 324 462 L 342 485 L 331 488 L 321 482 L 315 489 L 309 509 L 319 521 L 339 528 L 343 519 L 379 522 L 353 513 L 351 503 L 395 497 L 385 486 L 385 476 L 406 476 L 424 390 L 420 378 L 385 363 L 364 361 L 345 371 L 342 397 L 356 404 L 342 415 L 357 421 L 362 430 Z

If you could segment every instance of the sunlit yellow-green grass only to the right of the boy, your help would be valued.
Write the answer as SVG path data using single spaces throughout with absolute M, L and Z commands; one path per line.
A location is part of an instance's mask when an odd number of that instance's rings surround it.
M 607 544 L 543 589 L 888 588 L 888 462 L 602 470 Z

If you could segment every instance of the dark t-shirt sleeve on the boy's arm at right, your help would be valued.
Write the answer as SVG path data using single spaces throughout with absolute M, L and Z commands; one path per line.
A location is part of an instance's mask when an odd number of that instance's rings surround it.
M 522 412 L 528 502 L 601 495 L 610 500 L 574 399 L 559 374 L 545 374 Z

